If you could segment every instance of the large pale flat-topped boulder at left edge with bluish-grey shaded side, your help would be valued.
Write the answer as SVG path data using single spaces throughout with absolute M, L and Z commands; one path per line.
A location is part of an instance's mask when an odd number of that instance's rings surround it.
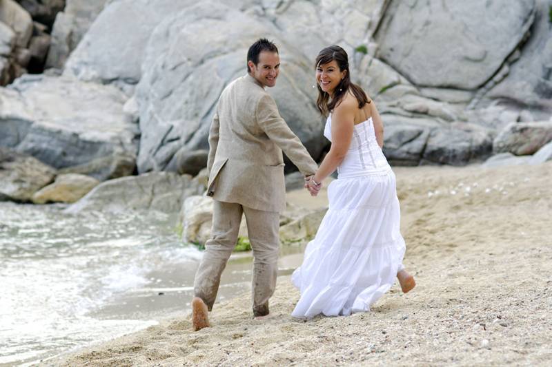
M 137 154 L 139 132 L 123 111 L 125 102 L 126 96 L 109 85 L 23 76 L 0 89 L 0 146 L 58 169 L 107 158 L 101 170 L 91 173 L 105 180 L 112 176 L 112 160 L 119 156 L 135 160 Z

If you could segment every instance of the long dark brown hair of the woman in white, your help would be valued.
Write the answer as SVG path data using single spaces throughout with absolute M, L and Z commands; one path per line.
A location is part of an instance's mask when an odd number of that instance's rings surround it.
M 362 88 L 355 83 L 351 83 L 351 72 L 349 72 L 347 52 L 345 52 L 345 50 L 340 48 L 338 45 L 332 45 L 320 51 L 318 56 L 316 56 L 315 68 L 320 65 L 331 63 L 333 60 L 337 63 L 339 71 L 342 72 L 346 70 L 346 73 L 341 82 L 339 82 L 337 87 L 335 87 L 331 102 L 328 102 L 330 95 L 324 92 L 317 83 L 318 98 L 316 101 L 316 107 L 318 107 L 320 113 L 324 116 L 328 116 L 328 114 L 333 111 L 339 103 L 341 103 L 348 90 L 351 90 L 355 98 L 357 98 L 359 108 L 364 107 L 366 103 L 370 103 L 371 101 L 368 99 L 368 96 L 366 96 L 366 93 L 364 93 L 364 90 L 362 90 Z

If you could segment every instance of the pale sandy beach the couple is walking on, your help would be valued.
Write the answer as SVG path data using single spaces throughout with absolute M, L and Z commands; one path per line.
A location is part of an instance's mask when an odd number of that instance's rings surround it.
M 183 312 L 42 365 L 549 365 L 552 162 L 395 173 L 411 293 L 395 284 L 369 313 L 293 319 L 299 293 L 281 276 L 267 319 L 253 319 L 246 293 L 215 304 L 197 333 Z

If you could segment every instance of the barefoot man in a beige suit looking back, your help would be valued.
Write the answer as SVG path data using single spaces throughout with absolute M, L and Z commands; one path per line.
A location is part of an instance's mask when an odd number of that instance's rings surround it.
M 209 326 L 220 276 L 246 216 L 253 249 L 253 315 L 268 315 L 276 286 L 279 212 L 286 209 L 282 151 L 306 178 L 316 162 L 280 117 L 265 91 L 279 73 L 274 43 L 259 39 L 247 54 L 248 74 L 222 92 L 209 132 L 208 195 L 213 196 L 213 233 L 195 275 L 195 331 Z

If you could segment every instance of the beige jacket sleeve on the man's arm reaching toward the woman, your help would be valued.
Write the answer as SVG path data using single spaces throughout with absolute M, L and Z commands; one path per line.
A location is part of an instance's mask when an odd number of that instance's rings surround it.
M 265 94 L 257 103 L 256 117 L 259 126 L 264 133 L 272 140 L 299 171 L 305 176 L 315 174 L 318 165 L 315 160 L 308 154 L 308 151 L 288 127 L 288 124 L 280 116 L 278 107 L 269 94 Z

